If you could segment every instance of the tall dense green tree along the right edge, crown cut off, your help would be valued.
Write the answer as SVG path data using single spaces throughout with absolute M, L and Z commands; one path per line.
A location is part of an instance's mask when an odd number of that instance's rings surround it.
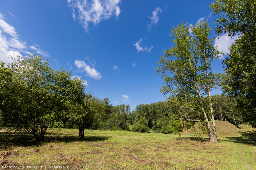
M 210 6 L 216 18 L 216 33 L 238 35 L 223 61 L 224 93 L 237 98 L 244 121 L 256 127 L 256 2 L 216 0 Z

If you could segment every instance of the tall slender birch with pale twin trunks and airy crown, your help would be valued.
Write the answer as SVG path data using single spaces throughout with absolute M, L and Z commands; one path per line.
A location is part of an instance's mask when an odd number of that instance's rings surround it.
M 211 62 L 219 54 L 212 39 L 211 28 L 206 21 L 189 28 L 183 22 L 172 29 L 174 46 L 164 51 L 156 71 L 161 74 L 163 86 L 160 92 L 178 94 L 182 98 L 194 98 L 198 102 L 192 109 L 200 111 L 207 124 L 210 142 L 217 142 L 210 91 L 218 86 L 220 74 L 211 69 Z M 203 96 L 209 96 L 205 102 Z M 210 125 L 212 120 L 213 126 Z

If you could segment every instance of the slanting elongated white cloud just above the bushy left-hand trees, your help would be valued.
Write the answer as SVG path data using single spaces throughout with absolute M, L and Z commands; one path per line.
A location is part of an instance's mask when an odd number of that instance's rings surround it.
M 75 60 L 75 66 L 81 71 L 86 72 L 86 76 L 90 76 L 96 80 L 99 80 L 101 78 L 101 75 L 99 72 L 96 71 L 96 69 L 93 67 L 91 68 L 90 65 L 85 63 L 85 61 Z

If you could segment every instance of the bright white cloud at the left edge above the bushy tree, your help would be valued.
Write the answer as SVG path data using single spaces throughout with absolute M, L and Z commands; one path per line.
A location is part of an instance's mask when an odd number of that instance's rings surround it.
M 11 12 L 9 12 L 11 14 Z M 12 15 L 12 14 L 11 14 Z M 39 45 L 30 46 L 32 50 L 43 56 L 50 56 L 39 48 Z M 15 28 L 6 22 L 4 14 L 0 13 L 0 61 L 4 61 L 7 65 L 12 62 L 9 56 L 22 56 L 21 53 L 31 54 L 27 51 L 27 43 L 20 39 Z

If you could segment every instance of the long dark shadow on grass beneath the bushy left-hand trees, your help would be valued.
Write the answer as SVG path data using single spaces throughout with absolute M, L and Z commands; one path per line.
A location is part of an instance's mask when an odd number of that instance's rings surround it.
M 49 134 L 48 134 L 49 135 Z M 105 141 L 111 136 L 84 136 L 84 138 L 79 139 L 78 136 L 69 136 L 69 135 L 54 135 L 54 136 L 45 136 L 44 140 L 41 142 L 34 142 L 33 136 L 31 134 L 17 133 L 17 134 L 4 134 L 0 132 L 0 151 L 12 149 L 14 146 L 26 147 L 26 146 L 35 146 L 43 145 L 51 142 L 59 143 L 70 143 L 70 142 L 99 142 Z

